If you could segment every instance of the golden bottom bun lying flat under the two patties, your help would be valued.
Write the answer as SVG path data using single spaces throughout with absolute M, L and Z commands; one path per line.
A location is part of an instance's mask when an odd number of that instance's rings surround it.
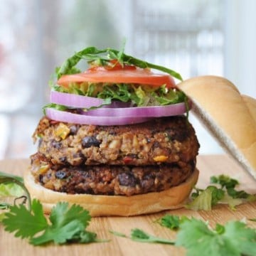
M 41 201 L 45 213 L 50 213 L 56 203 L 65 201 L 70 204 L 79 204 L 89 210 L 92 217 L 109 215 L 131 216 L 181 208 L 190 195 L 193 186 L 198 181 L 198 174 L 199 171 L 196 169 L 185 182 L 178 186 L 169 188 L 166 191 L 136 196 L 68 194 L 51 191 L 36 183 L 29 169 L 24 174 L 24 183 L 31 194 L 31 198 Z

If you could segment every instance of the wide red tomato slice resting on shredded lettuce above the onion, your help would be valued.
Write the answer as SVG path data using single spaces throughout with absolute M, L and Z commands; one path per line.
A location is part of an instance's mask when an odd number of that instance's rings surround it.
M 112 82 L 112 83 L 138 83 L 142 85 L 166 85 L 175 87 L 174 78 L 170 75 L 152 73 L 147 69 L 96 69 L 87 70 L 85 73 L 63 75 L 58 80 L 58 85 L 68 87 L 70 82 Z

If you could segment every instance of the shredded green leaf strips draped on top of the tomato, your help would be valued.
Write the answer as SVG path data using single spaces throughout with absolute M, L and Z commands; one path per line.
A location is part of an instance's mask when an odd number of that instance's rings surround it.
M 56 68 L 55 75 L 57 79 L 59 79 L 61 75 L 80 73 L 80 70 L 76 68 L 76 65 L 80 60 L 86 60 L 89 63 L 97 62 L 97 65 L 105 65 L 106 63 L 109 63 L 110 60 L 118 60 L 121 65 L 127 64 L 134 65 L 138 68 L 153 68 L 155 70 L 168 73 L 178 80 L 182 80 L 181 75 L 176 73 L 174 70 L 125 54 L 124 46 L 122 47 L 122 50 L 115 50 L 112 48 L 105 48 L 101 50 L 93 46 L 80 50 L 78 53 L 75 53 L 73 56 L 65 60 L 63 65 Z

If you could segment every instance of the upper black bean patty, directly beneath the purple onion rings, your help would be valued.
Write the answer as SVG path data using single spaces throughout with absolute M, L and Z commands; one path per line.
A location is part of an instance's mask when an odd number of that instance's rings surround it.
M 33 137 L 41 138 L 38 152 L 63 166 L 188 162 L 195 159 L 199 148 L 195 131 L 184 116 L 125 126 L 68 124 L 43 117 Z

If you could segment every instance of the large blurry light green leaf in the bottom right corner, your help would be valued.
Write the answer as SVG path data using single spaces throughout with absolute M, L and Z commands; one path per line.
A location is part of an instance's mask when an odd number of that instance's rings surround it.
M 210 230 L 202 220 L 181 223 L 176 245 L 186 247 L 187 255 L 256 255 L 256 233 L 245 223 L 230 221 Z

